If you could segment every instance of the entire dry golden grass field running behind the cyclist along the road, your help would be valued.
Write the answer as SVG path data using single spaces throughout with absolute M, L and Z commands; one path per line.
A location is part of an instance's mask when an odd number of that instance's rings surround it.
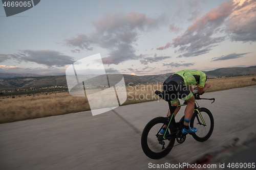
M 253 79 L 254 78 L 254 79 Z M 256 85 L 256 76 L 209 79 L 211 87 L 207 90 L 218 91 L 230 88 Z M 127 86 L 127 100 L 123 105 L 157 100 L 155 90 L 161 90 L 162 84 Z M 2 96 L 0 98 L 0 123 L 18 120 L 61 115 L 90 110 L 87 98 L 75 97 L 68 92 L 50 92 Z

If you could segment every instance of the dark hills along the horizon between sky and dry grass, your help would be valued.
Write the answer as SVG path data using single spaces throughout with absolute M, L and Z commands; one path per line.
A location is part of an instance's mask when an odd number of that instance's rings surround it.
M 250 67 L 232 67 L 232 68 L 219 68 L 211 71 L 204 71 L 209 78 L 211 77 L 223 77 L 223 76 L 242 76 L 256 74 L 256 66 Z M 134 75 L 123 75 L 125 84 L 133 83 L 146 84 L 146 83 L 157 83 L 163 82 L 172 73 L 162 75 L 146 75 L 146 76 L 134 76 Z M 95 75 L 94 75 L 95 76 Z M 8 77 L 8 78 L 7 78 Z M 14 88 L 41 88 L 51 86 L 65 86 L 67 84 L 66 76 L 43 76 L 34 74 L 3 74 L 0 73 L 0 90 L 14 89 Z M 4 78 L 4 79 L 3 79 Z M 115 76 L 112 77 L 115 79 Z M 118 77 L 116 77 L 116 80 Z M 88 84 L 92 85 L 108 85 L 102 84 L 102 77 L 98 76 L 97 79 L 87 81 Z M 130 84 L 132 85 L 132 84 Z

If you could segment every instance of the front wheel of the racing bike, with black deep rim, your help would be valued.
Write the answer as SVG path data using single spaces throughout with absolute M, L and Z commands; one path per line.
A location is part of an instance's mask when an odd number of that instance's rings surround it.
M 204 119 L 206 126 L 203 125 L 202 119 L 199 116 L 198 112 L 195 111 L 190 120 L 190 127 L 197 128 L 198 131 L 193 133 L 192 136 L 197 141 L 203 142 L 209 139 L 214 131 L 214 117 L 211 112 L 206 108 L 200 108 L 200 113 Z

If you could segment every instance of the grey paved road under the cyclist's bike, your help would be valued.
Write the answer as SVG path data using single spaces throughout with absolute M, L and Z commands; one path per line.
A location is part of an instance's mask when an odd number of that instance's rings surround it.
M 211 110 L 215 129 L 205 142 L 190 135 L 165 158 L 142 152 L 141 132 L 152 118 L 165 116 L 165 101 L 126 105 L 100 115 L 90 111 L 0 125 L 0 169 L 148 169 L 148 163 L 185 163 L 219 150 L 256 122 L 256 86 L 210 92 L 199 101 Z M 181 117 L 183 110 L 177 117 Z M 241 132 L 242 131 L 242 132 Z

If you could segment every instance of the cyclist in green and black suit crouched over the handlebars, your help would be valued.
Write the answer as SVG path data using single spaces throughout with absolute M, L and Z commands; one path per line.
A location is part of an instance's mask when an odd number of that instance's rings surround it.
M 168 96 L 169 100 L 171 100 L 172 106 L 180 105 L 180 101 L 184 100 L 187 103 L 185 112 L 184 112 L 184 125 L 182 129 L 182 133 L 195 133 L 197 132 L 197 128 L 189 127 L 189 122 L 192 117 L 194 108 L 195 108 L 195 97 L 193 95 L 193 86 L 198 86 L 198 93 L 203 94 L 207 88 L 210 87 L 209 83 L 205 83 L 207 80 L 207 76 L 204 72 L 199 70 L 181 70 L 175 72 L 173 75 L 168 77 L 163 83 L 163 93 Z M 180 107 L 177 107 L 174 116 L 178 113 Z M 168 116 L 170 115 L 170 111 L 168 112 Z M 163 134 L 165 132 L 166 126 L 161 129 L 160 133 Z M 168 131 L 166 132 L 166 134 Z

